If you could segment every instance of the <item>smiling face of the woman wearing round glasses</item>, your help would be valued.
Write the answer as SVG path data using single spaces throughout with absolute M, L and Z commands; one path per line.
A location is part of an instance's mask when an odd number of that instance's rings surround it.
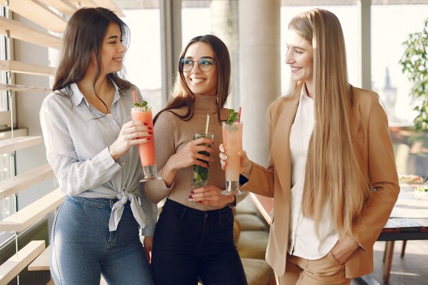
M 214 64 L 208 72 L 203 72 L 198 63 L 202 58 L 216 60 L 211 46 L 206 42 L 195 42 L 187 48 L 184 57 L 193 60 L 193 68 L 189 72 L 183 72 L 191 92 L 211 96 L 217 94 L 217 64 Z

